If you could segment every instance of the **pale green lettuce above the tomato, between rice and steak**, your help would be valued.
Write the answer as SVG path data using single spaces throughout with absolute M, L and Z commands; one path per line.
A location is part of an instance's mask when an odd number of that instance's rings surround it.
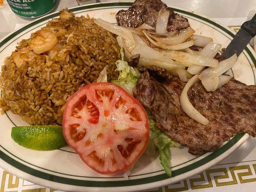
M 124 60 L 123 48 L 120 49 L 120 53 L 121 60 L 116 61 L 116 71 L 119 71 L 119 77 L 118 80 L 113 80 L 111 83 L 118 84 L 133 95 L 133 88 L 138 81 L 140 72 L 136 68 L 129 66 L 128 62 Z

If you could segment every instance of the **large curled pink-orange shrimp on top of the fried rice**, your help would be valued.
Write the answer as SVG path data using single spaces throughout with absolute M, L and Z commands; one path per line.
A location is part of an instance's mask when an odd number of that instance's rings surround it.
M 37 54 L 51 50 L 58 43 L 57 36 L 48 30 L 37 31 L 31 40 L 31 48 Z

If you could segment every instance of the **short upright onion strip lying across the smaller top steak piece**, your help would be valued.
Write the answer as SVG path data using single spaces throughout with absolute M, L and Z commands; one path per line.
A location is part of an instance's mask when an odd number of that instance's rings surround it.
M 161 9 L 158 12 L 158 19 L 157 19 L 157 24 L 156 24 L 156 33 L 159 34 L 165 34 L 166 29 L 167 29 L 167 24 L 169 20 L 169 14 L 170 10 L 169 9 Z

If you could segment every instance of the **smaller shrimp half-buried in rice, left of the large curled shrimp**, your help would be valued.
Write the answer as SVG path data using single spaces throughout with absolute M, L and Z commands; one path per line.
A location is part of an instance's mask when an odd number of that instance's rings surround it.
M 37 56 L 36 53 L 31 51 L 29 48 L 23 48 L 17 52 L 12 53 L 12 59 L 15 62 L 16 67 L 20 68 L 24 61 L 29 61 Z

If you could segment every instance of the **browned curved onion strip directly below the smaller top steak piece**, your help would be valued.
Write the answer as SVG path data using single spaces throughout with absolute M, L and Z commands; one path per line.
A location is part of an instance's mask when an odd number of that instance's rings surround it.
M 187 40 L 194 33 L 195 33 L 195 31 L 189 27 L 177 36 L 169 35 L 166 37 L 157 37 L 157 36 L 151 35 L 150 33 L 147 33 L 147 35 L 150 36 L 151 38 L 155 39 L 159 43 L 166 44 L 166 45 L 177 45 L 177 44 L 180 44 L 180 43 L 184 42 L 185 40 Z

